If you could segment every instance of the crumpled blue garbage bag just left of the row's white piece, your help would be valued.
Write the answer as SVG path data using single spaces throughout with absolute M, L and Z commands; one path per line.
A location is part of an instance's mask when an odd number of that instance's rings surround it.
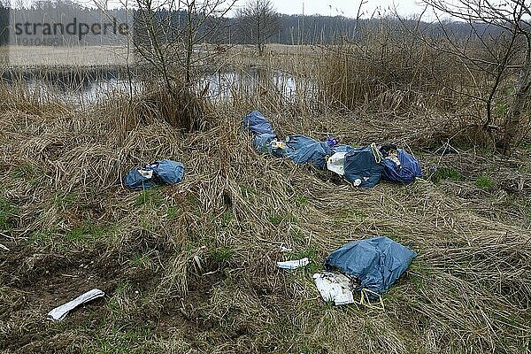
M 318 142 L 304 135 L 286 137 L 286 156 L 297 165 L 312 164 L 320 170 L 327 168 L 327 156 L 333 154 L 327 142 Z

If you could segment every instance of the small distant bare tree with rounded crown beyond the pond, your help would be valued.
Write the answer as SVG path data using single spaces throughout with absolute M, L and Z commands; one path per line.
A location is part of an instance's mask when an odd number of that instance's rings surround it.
M 257 46 L 262 55 L 266 42 L 279 33 L 280 18 L 270 0 L 249 0 L 236 12 L 240 35 Z

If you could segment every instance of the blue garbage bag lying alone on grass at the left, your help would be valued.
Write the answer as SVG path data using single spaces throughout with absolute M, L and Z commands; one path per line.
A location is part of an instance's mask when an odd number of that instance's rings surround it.
M 134 168 L 124 183 L 130 189 L 149 189 L 154 184 L 175 184 L 182 181 L 184 166 L 172 160 L 160 160 Z

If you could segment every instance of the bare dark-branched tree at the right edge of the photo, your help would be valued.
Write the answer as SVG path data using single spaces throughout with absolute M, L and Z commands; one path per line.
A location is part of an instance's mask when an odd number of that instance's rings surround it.
M 431 42 L 437 50 L 455 56 L 466 65 L 470 81 L 484 78 L 475 92 L 467 96 L 484 104 L 483 128 L 492 135 L 496 129 L 496 148 L 509 155 L 524 129 L 523 113 L 531 90 L 531 4 L 526 0 L 424 0 L 435 13 L 443 12 L 465 21 L 470 29 L 466 40 L 451 35 L 448 21 L 437 17 L 443 41 Z M 480 79 L 479 79 L 480 78 Z M 487 89 L 486 89 L 487 88 Z M 494 102 L 504 102 L 500 126 L 496 126 Z M 499 113 L 498 113 L 499 115 Z

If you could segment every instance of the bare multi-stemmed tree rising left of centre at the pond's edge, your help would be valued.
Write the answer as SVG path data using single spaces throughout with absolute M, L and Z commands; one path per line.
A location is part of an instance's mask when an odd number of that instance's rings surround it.
M 175 89 L 174 82 L 190 89 L 198 66 L 217 54 L 198 45 L 224 26 L 235 1 L 135 0 L 135 50 L 162 75 L 169 91 Z

